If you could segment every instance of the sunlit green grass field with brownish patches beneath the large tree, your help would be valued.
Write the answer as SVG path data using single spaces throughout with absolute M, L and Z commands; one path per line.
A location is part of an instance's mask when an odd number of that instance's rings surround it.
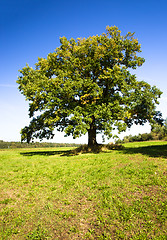
M 0 239 L 167 239 L 167 142 L 0 150 Z

